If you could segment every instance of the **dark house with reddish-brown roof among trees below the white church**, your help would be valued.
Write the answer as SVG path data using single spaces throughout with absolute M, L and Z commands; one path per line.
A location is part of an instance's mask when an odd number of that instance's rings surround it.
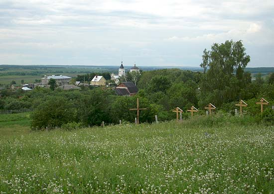
M 133 82 L 122 82 L 114 91 L 119 96 L 134 96 L 138 93 L 138 88 Z

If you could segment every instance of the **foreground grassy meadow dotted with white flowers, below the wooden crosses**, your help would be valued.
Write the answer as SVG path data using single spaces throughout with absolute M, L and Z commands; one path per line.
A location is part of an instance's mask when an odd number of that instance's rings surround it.
M 273 191 L 274 127 L 235 118 L 216 125 L 212 121 L 199 117 L 2 136 L 0 191 Z M 238 121 L 246 126 L 234 124 Z

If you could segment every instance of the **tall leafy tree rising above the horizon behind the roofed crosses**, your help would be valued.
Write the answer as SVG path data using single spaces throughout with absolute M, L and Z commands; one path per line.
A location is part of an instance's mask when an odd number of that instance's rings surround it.
M 240 90 L 251 81 L 250 74 L 244 72 L 250 56 L 242 41 L 214 43 L 210 50 L 204 50 L 202 59 L 200 105 L 208 103 L 206 101 L 220 105 L 239 98 Z

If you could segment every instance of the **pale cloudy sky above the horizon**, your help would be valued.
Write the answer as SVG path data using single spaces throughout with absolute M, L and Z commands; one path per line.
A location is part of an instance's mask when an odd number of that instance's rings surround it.
M 274 0 L 0 0 L 0 64 L 198 67 L 231 39 L 274 67 Z

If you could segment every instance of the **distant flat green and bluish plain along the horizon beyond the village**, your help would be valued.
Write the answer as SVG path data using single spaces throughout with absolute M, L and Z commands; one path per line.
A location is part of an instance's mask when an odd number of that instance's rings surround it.
M 12 80 L 15 80 L 17 84 L 24 80 L 24 83 L 33 83 L 35 79 L 39 80 L 44 75 L 67 75 L 70 77 L 76 77 L 77 75 L 92 73 L 92 72 L 114 72 L 118 73 L 117 66 L 83 66 L 83 65 L 0 65 L 0 84 L 10 84 Z M 125 66 L 126 69 L 130 69 L 132 66 Z M 163 68 L 180 68 L 191 71 L 202 71 L 200 67 L 154 67 L 154 66 L 141 66 L 143 71 L 163 69 Z M 245 71 L 252 73 L 254 77 L 257 73 L 262 73 L 266 78 L 267 74 L 274 72 L 272 67 L 259 67 L 259 68 L 246 68 Z

